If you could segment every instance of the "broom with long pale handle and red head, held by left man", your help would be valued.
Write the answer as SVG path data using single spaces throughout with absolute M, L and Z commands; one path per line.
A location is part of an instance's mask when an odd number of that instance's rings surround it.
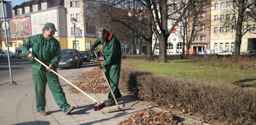
M 40 64 L 42 64 L 43 66 L 47 67 L 48 69 L 50 69 L 48 66 L 46 66 L 44 63 L 42 63 L 39 59 L 36 59 L 37 62 L 39 62 Z M 57 72 L 55 72 L 54 70 L 50 69 L 50 71 L 54 72 L 54 74 L 58 75 L 59 77 L 61 77 L 63 80 L 65 80 L 67 83 L 69 83 L 70 85 L 72 85 L 73 87 L 77 88 L 77 90 L 79 90 L 80 92 L 82 92 L 83 94 L 85 94 L 87 97 L 89 97 L 90 99 L 92 99 L 93 101 L 95 101 L 97 104 L 94 105 L 94 111 L 98 111 L 98 110 L 102 110 L 102 108 L 104 108 L 105 102 L 102 101 L 97 101 L 94 98 L 90 97 L 90 95 L 88 95 L 87 93 L 83 92 L 83 90 L 81 90 L 80 88 L 78 88 L 77 86 L 73 85 L 71 82 L 69 82 L 69 80 L 65 79 L 64 77 L 62 77 L 61 75 L 59 75 Z

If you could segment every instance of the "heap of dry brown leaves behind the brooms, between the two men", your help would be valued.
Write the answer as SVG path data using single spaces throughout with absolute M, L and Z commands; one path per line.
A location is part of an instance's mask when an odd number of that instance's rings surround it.
M 103 77 L 102 71 L 99 67 L 95 67 L 93 71 L 82 72 L 77 75 L 79 82 L 73 84 L 87 93 L 107 93 L 107 82 Z M 70 85 L 72 92 L 78 93 L 76 88 Z

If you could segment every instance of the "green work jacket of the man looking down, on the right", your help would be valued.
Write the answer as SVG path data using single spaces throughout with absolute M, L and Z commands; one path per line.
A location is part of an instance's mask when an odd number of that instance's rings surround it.
M 121 63 L 121 44 L 118 38 L 115 35 L 112 36 L 110 41 L 103 42 L 101 38 L 98 38 L 94 41 L 93 46 L 98 46 L 102 44 L 102 50 L 104 53 L 104 63 L 102 67 L 105 68 L 112 64 L 119 64 Z

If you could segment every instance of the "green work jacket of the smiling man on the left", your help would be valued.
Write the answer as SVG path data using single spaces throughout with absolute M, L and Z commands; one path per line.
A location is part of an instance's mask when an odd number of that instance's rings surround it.
M 32 48 L 32 53 L 37 59 L 49 66 L 52 64 L 54 70 L 57 69 L 60 61 L 60 43 L 55 38 L 47 39 L 42 34 L 34 35 L 29 38 L 21 49 L 24 54 L 29 54 Z M 30 59 L 32 68 L 40 69 L 41 64 L 34 59 Z

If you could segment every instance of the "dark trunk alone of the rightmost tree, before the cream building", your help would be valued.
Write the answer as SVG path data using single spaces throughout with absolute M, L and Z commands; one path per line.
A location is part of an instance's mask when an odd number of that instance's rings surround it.
M 240 54 L 240 46 L 242 43 L 242 23 L 244 19 L 244 0 L 239 0 L 238 19 L 235 33 L 235 55 Z

